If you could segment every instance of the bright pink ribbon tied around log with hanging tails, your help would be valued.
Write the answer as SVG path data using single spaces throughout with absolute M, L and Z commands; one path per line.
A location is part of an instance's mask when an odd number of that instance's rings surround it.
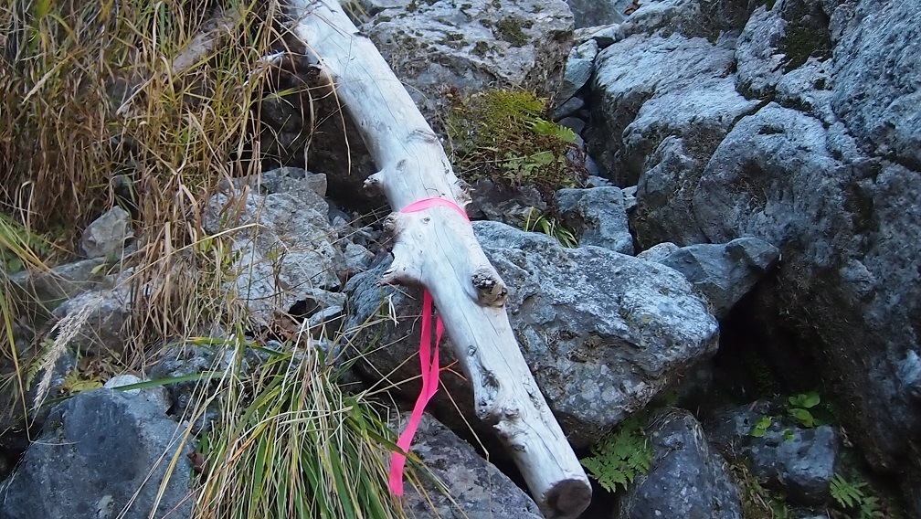
M 414 202 L 409 206 L 402 208 L 401 213 L 414 213 L 424 211 L 430 207 L 445 206 L 450 207 L 461 213 L 463 218 L 467 218 L 467 213 L 460 206 L 451 202 L 447 198 L 426 198 Z M 413 414 L 410 415 L 409 423 L 406 429 L 402 431 L 400 439 L 397 440 L 397 446 L 400 451 L 393 451 L 391 457 L 391 477 L 390 486 L 394 495 L 402 496 L 402 472 L 403 466 L 406 465 L 406 456 L 402 453 L 408 453 L 409 447 L 413 443 L 415 431 L 419 429 L 419 422 L 422 420 L 422 413 L 426 410 L 426 404 L 432 399 L 432 396 L 438 390 L 438 344 L 441 342 L 441 336 L 445 331 L 445 325 L 441 322 L 441 317 L 437 317 L 435 324 L 435 348 L 432 348 L 432 294 L 428 290 L 422 292 L 422 338 L 419 340 L 419 363 L 422 365 L 422 391 L 415 401 Z M 401 452 L 402 451 L 402 452 Z

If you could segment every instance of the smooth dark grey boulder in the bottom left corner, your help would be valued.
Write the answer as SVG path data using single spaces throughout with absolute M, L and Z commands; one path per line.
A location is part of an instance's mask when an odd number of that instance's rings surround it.
M 52 410 L 39 441 L 0 485 L 0 518 L 146 519 L 181 439 L 181 426 L 141 395 L 76 395 Z M 180 455 L 154 516 L 191 516 L 191 474 Z

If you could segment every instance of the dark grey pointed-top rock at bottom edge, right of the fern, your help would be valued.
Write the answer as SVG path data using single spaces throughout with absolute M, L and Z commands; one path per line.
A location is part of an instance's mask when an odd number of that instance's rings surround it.
M 615 519 L 741 519 L 726 461 L 710 448 L 694 415 L 657 411 L 647 431 L 654 452 L 649 473 L 637 475 Z

